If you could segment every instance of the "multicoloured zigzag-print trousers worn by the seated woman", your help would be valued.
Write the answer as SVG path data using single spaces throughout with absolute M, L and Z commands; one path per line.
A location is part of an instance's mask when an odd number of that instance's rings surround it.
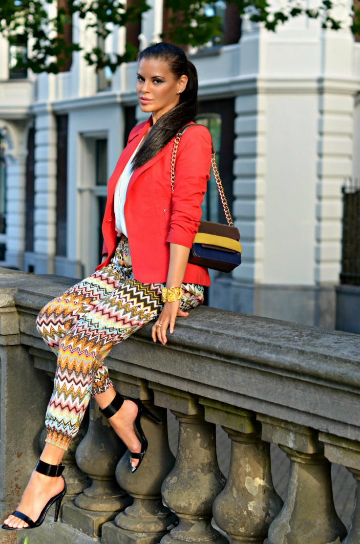
M 82 422 L 90 396 L 113 384 L 103 360 L 162 311 L 163 283 L 140 283 L 132 272 L 128 240 L 122 236 L 112 262 L 50 301 L 39 313 L 38 331 L 58 357 L 45 424 L 46 442 L 67 449 Z M 182 285 L 180 307 L 203 302 L 203 287 Z

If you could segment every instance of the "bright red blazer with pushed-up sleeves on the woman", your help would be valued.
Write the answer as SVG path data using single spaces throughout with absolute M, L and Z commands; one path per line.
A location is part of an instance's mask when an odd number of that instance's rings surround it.
M 102 223 L 106 261 L 109 264 L 118 242 L 115 230 L 114 191 L 121 172 L 151 126 L 151 118 L 131 131 L 108 182 L 108 197 Z M 170 242 L 191 248 L 201 218 L 201 202 L 209 180 L 212 139 L 198 125 L 184 132 L 176 158 L 174 191 L 171 190 L 171 156 L 174 138 L 129 181 L 124 215 L 133 274 L 142 283 L 165 283 L 170 261 Z M 187 264 L 184 283 L 210 285 L 207 268 Z

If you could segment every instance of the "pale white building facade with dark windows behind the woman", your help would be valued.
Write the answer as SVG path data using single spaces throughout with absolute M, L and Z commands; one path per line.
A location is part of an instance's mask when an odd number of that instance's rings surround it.
M 150 3 L 142 45 L 162 32 L 162 0 Z M 213 133 L 243 246 L 232 275 L 212 273 L 209 305 L 335 325 L 342 187 L 360 178 L 360 42 L 350 3 L 335 3 L 342 30 L 301 16 L 272 33 L 244 18 L 238 43 L 191 56 L 198 122 Z M 84 21 L 73 29 L 82 44 L 94 39 Z M 112 39 L 121 51 L 124 29 Z M 100 259 L 107 179 L 143 119 L 136 64 L 123 64 L 106 89 L 80 53 L 70 71 L 11 79 L 8 49 L 0 38 L 3 261 L 36 274 L 89 275 Z M 220 214 L 212 186 L 204 216 Z

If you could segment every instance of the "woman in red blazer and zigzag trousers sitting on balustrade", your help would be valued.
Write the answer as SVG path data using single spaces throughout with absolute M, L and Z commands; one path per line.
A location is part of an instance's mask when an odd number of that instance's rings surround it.
M 166 344 L 176 318 L 203 302 L 205 268 L 188 263 L 209 179 L 211 137 L 206 128 L 181 138 L 176 179 L 171 156 L 176 133 L 197 113 L 197 74 L 184 52 L 156 44 L 139 54 L 136 92 L 151 114 L 129 135 L 108 182 L 103 261 L 95 274 L 49 302 L 38 316 L 41 336 L 57 354 L 54 390 L 46 413 L 47 438 L 17 510 L 5 529 L 38 527 L 66 483 L 61 459 L 79 428 L 90 396 L 131 452 L 134 472 L 147 448 L 139 399 L 116 393 L 104 358 L 150 320 L 152 339 Z M 134 425 L 140 441 L 134 432 Z

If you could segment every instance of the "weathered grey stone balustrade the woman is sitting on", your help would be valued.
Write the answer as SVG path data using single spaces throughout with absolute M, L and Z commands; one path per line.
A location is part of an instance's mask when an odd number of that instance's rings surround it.
M 55 356 L 35 317 L 71 284 L 0 270 L 2 518 L 44 439 Z M 129 453 L 91 403 L 65 457 L 61 521 L 48 516 L 30 544 L 225 544 L 225 534 L 239 544 L 359 544 L 360 485 L 347 534 L 330 468 L 338 463 L 360 479 L 360 337 L 213 308 L 178 319 L 166 347 L 151 341 L 150 328 L 107 358 L 116 389 L 163 421 L 142 419 L 149 447 L 141 467 L 131 473 Z M 176 459 L 166 409 L 179 424 Z M 231 441 L 227 481 L 216 424 Z M 290 459 L 284 503 L 272 485 L 270 443 Z

